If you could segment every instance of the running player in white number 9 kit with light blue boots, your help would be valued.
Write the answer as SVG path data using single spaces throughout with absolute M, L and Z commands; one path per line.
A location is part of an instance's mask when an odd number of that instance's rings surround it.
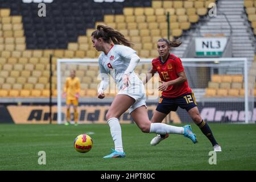
M 114 78 L 119 90 L 106 114 L 115 150 L 104 158 L 125 157 L 118 118 L 127 109 L 129 109 L 134 122 L 144 133 L 183 134 L 184 137 L 190 138 L 193 143 L 197 142 L 189 125 L 176 127 L 164 123 L 151 123 L 148 119 L 144 85 L 134 73 L 140 58 L 136 51 L 130 48 L 131 43 L 121 33 L 111 27 L 98 25 L 97 29 L 92 32 L 91 38 L 93 47 L 97 51 L 102 51 L 98 58 L 102 78 L 98 89 L 98 98 L 105 97 L 104 90 L 109 85 L 109 79 L 106 77 L 108 74 Z

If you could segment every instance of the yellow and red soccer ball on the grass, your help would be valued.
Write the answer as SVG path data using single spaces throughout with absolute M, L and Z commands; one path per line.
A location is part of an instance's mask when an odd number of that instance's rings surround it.
M 89 135 L 81 134 L 78 135 L 74 142 L 74 147 L 77 152 L 86 153 L 92 149 L 93 140 Z

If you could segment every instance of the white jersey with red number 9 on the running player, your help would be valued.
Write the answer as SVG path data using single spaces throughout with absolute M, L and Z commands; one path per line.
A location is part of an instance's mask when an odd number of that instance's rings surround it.
M 122 77 L 125 73 L 128 65 L 130 64 L 130 56 L 136 53 L 134 49 L 122 46 L 114 45 L 108 55 L 105 55 L 104 52 L 101 52 L 100 57 L 98 58 L 98 63 L 100 65 L 100 73 L 109 73 L 115 80 L 119 90 L 122 89 Z M 142 81 L 132 72 L 129 76 L 130 84 L 136 82 L 137 84 L 143 84 Z

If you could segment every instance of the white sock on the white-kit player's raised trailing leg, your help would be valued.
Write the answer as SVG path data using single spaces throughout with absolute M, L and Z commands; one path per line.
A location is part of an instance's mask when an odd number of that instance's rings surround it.
M 160 134 L 160 135 L 165 135 L 167 133 L 183 134 L 184 128 L 166 125 L 164 123 L 151 123 L 150 133 L 156 133 L 156 134 Z

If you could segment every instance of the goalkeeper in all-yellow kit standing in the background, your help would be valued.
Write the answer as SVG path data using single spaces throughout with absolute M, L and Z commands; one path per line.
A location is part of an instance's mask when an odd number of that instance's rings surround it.
M 70 107 L 73 105 L 74 109 L 74 120 L 75 126 L 78 125 L 78 111 L 77 106 L 79 105 L 79 94 L 80 94 L 80 80 L 76 77 L 76 71 L 71 70 L 70 76 L 66 78 L 63 96 L 66 98 L 67 105 L 67 122 L 65 125 L 70 125 L 71 111 Z

